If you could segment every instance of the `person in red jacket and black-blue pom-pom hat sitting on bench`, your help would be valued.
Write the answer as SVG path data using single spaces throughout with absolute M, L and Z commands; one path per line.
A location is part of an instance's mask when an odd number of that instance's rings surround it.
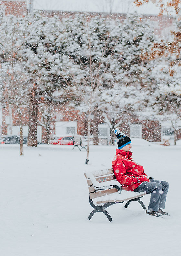
M 112 167 L 116 179 L 125 190 L 145 192 L 151 194 L 147 214 L 152 216 L 169 215 L 162 209 L 165 208 L 166 196 L 169 184 L 166 181 L 154 180 L 144 173 L 143 166 L 138 165 L 132 156 L 130 149 L 131 139 L 119 129 L 115 129 L 118 138 L 118 149 L 112 161 Z

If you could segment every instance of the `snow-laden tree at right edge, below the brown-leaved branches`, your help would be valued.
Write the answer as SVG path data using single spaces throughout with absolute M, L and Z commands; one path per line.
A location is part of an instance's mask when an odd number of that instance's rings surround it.
M 174 145 L 176 145 L 177 134 L 181 119 L 181 84 L 180 84 L 180 67 L 177 66 L 177 73 L 174 76 L 169 74 L 169 62 L 163 59 L 156 66 L 153 72 L 156 76 L 157 86 L 153 91 L 145 109 L 138 114 L 140 119 L 149 119 L 154 121 L 169 121 L 174 130 Z

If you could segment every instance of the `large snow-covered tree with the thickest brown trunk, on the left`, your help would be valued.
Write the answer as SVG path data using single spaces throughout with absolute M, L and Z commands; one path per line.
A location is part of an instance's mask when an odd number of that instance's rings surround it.
M 13 102 L 9 104 L 20 105 L 22 100 L 22 104 L 28 105 L 28 145 L 37 146 L 37 113 L 41 98 L 52 97 L 54 91 L 64 88 L 63 79 L 57 75 L 62 56 L 57 50 L 61 42 L 56 41 L 62 32 L 61 21 L 56 16 L 48 18 L 39 12 L 25 17 L 3 15 L 1 19 L 2 80 L 9 89 L 6 96 Z M 13 90 L 21 94 L 21 99 Z

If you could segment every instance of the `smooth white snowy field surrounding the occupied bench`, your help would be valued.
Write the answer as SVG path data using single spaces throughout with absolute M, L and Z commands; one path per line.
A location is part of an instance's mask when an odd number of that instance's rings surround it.
M 0 145 L 1 256 L 180 255 L 181 145 L 164 147 L 133 140 L 133 158 L 155 179 L 170 183 L 157 218 L 132 202 L 107 208 L 113 221 L 92 211 L 84 172 L 110 168 L 116 146 Z M 149 196 L 143 198 L 146 207 Z

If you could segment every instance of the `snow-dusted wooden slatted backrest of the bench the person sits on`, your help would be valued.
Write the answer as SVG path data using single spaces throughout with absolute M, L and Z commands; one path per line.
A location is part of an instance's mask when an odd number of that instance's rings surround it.
M 106 181 L 116 181 L 113 169 L 84 173 L 84 175 L 87 179 L 87 184 L 89 186 L 90 199 L 109 195 L 118 191 L 118 189 L 116 188 L 111 188 L 110 184 L 104 184 L 104 182 Z M 107 188 L 105 188 L 104 186 L 107 186 Z

